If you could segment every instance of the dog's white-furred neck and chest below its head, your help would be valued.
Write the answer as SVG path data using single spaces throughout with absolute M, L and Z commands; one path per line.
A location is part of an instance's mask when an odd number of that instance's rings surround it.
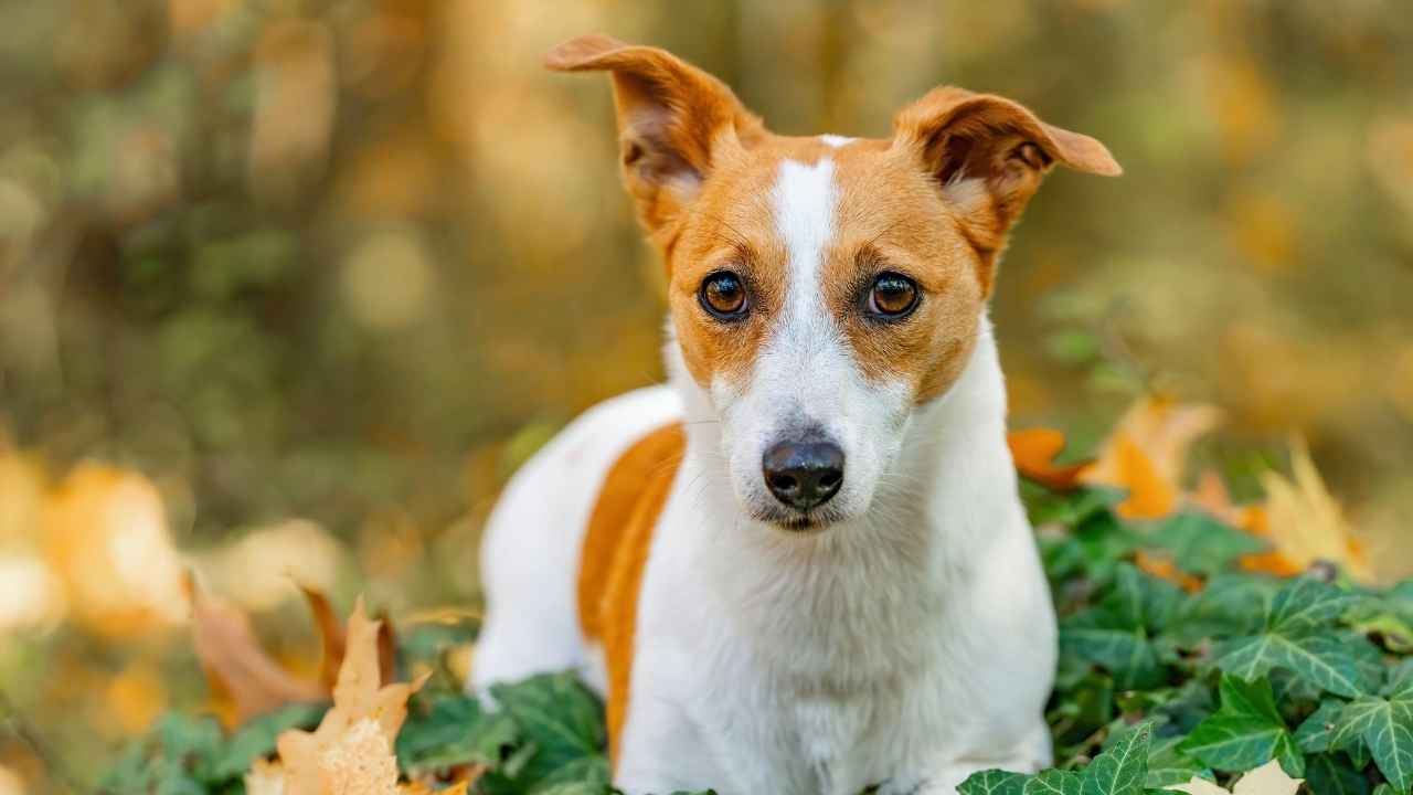
M 950 791 L 1048 761 L 1054 615 L 983 328 L 961 382 L 914 413 L 875 509 L 810 536 L 735 511 L 678 368 L 688 457 L 643 580 L 619 787 Z

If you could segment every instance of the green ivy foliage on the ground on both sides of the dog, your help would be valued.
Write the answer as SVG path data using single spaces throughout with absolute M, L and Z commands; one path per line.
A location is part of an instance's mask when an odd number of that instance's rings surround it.
M 1143 795 L 1195 778 L 1226 784 L 1276 760 L 1317 795 L 1413 791 L 1413 581 L 1371 590 L 1317 570 L 1293 580 L 1242 571 L 1260 542 L 1204 515 L 1126 522 L 1116 494 L 1036 492 L 1041 546 L 1061 614 L 1061 662 L 1047 719 L 1057 767 L 988 771 L 964 795 Z M 1060 522 L 1060 525 L 1057 525 Z M 1197 593 L 1145 573 L 1135 553 L 1210 576 Z M 455 635 L 411 635 L 421 659 Z M 445 671 L 413 699 L 397 738 L 408 777 L 472 765 L 476 792 L 610 791 L 603 709 L 567 673 L 495 689 L 489 712 Z M 136 744 L 105 792 L 235 794 L 277 731 L 308 726 L 291 707 L 229 738 L 172 716 Z

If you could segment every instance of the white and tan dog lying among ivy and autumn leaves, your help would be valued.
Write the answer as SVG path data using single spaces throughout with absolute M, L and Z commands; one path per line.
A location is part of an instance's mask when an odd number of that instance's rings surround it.
M 487 522 L 468 686 L 575 669 L 613 782 L 955 792 L 1051 762 L 1054 607 L 986 306 L 1007 232 L 1099 141 L 937 88 L 886 140 L 769 132 L 603 35 L 620 164 L 668 273 L 668 383 L 591 409 Z

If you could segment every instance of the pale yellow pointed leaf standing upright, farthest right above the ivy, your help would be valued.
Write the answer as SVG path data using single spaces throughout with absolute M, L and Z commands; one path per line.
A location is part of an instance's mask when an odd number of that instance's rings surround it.
M 1325 488 L 1320 470 L 1310 458 L 1304 440 L 1290 443 L 1291 478 L 1266 472 L 1265 536 L 1273 553 L 1243 560 L 1248 569 L 1300 573 L 1318 562 L 1340 566 L 1351 577 L 1371 583 L 1373 573 L 1368 556 L 1354 538 L 1340 502 Z

